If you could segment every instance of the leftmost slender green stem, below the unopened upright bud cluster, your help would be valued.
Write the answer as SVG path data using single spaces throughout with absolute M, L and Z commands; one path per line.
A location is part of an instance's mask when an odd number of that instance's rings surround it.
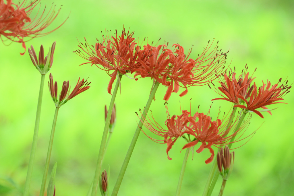
M 35 154 L 36 154 L 36 148 L 37 148 L 37 142 L 38 142 L 38 132 L 39 132 L 39 124 L 40 124 L 40 115 L 41 115 L 41 106 L 42 106 L 44 81 L 45 81 L 45 75 L 41 75 L 39 98 L 38 98 L 36 120 L 35 120 L 35 128 L 34 128 L 34 136 L 33 136 L 31 154 L 30 154 L 30 159 L 29 159 L 28 172 L 26 174 L 26 183 L 24 185 L 24 196 L 29 195 L 31 177 L 32 177 L 32 172 L 33 172 L 33 167 L 34 167 L 34 160 L 35 160 Z

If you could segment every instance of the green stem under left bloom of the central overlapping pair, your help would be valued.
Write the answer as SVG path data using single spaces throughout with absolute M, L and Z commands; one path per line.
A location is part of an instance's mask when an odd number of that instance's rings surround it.
M 99 149 L 99 154 L 98 154 L 98 160 L 97 160 L 97 165 L 96 165 L 96 171 L 95 171 L 95 175 L 94 175 L 94 181 L 93 181 L 93 186 L 92 186 L 92 193 L 91 196 L 95 196 L 96 192 L 97 192 L 97 185 L 99 182 L 99 176 L 100 176 L 100 171 L 101 171 L 101 165 L 102 165 L 102 159 L 104 156 L 104 150 L 105 150 L 105 145 L 106 145 L 106 138 L 107 138 L 107 133 L 108 133 L 108 129 L 109 129 L 109 123 L 110 123 L 110 118 L 111 118 L 111 111 L 114 105 L 114 101 L 116 98 L 116 93 L 118 90 L 118 86 L 121 80 L 121 76 L 122 75 L 118 75 L 118 79 L 116 81 L 116 85 L 113 89 L 113 93 L 112 93 L 112 97 L 110 100 L 110 104 L 109 104 L 109 108 L 108 108 L 108 113 L 106 116 L 106 120 L 105 120 L 105 126 L 104 126 L 104 130 L 103 130 L 103 134 L 102 134 L 102 139 L 101 139 L 101 144 L 100 144 L 100 149 Z

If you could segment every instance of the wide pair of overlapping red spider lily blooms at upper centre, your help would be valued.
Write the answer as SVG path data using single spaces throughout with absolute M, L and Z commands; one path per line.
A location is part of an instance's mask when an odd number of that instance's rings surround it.
M 218 50 L 216 45 L 212 51 L 213 41 L 204 48 L 197 59 L 189 58 L 191 50 L 186 55 L 184 49 L 179 44 L 173 44 L 171 49 L 166 45 L 152 46 L 147 44 L 143 46 L 136 45 L 133 38 L 134 32 L 126 33 L 123 29 L 121 36 L 103 36 L 101 43 L 99 41 L 95 46 L 87 43 L 80 43 L 79 50 L 74 52 L 89 62 L 82 63 L 105 70 L 111 80 L 108 85 L 108 93 L 111 93 L 113 81 L 118 74 L 124 75 L 134 73 L 134 78 L 150 77 L 153 82 L 162 83 L 167 87 L 164 100 L 168 100 L 172 92 L 178 92 L 180 87 L 185 90 L 180 94 L 184 96 L 189 86 L 201 86 L 210 83 L 219 76 L 224 68 L 226 53 Z M 100 66 L 99 66 L 100 65 Z M 112 73 L 110 73 L 113 71 Z

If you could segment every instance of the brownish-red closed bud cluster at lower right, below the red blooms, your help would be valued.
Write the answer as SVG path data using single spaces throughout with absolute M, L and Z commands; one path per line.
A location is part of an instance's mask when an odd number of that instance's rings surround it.
M 230 153 L 228 146 L 220 149 L 217 156 L 218 170 L 223 180 L 228 180 L 233 170 L 235 152 Z

